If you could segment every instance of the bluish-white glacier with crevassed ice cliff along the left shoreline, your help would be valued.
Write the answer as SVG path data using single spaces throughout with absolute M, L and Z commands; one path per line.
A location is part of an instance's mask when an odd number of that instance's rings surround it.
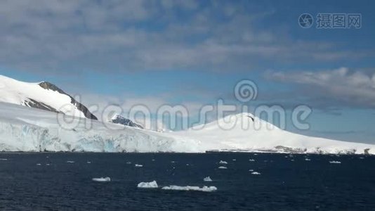
M 58 115 L 0 103 L 0 151 L 204 152 L 199 141 L 87 118 L 68 119 L 69 129 Z

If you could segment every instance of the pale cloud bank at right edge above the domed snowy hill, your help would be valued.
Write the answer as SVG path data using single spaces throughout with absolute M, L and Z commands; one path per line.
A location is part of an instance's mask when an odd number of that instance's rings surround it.
M 268 72 L 268 79 L 309 87 L 310 96 L 324 96 L 346 105 L 375 106 L 375 70 L 338 68 L 324 71 Z M 305 93 L 306 94 L 306 93 Z M 329 99 L 330 98 L 330 99 Z

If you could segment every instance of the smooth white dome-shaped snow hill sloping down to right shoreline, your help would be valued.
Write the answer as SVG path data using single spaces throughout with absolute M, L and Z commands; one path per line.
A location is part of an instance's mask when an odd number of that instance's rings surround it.
M 199 140 L 206 151 L 375 154 L 375 146 L 371 144 L 294 134 L 254 117 L 251 113 L 229 115 L 204 125 L 203 129 L 189 129 L 173 134 Z

